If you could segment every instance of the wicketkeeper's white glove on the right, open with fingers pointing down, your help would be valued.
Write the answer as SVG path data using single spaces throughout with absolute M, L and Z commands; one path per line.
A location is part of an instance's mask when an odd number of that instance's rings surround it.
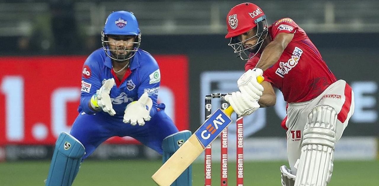
M 147 108 L 146 108 L 147 106 Z M 124 123 L 129 123 L 130 125 L 139 126 L 145 125 L 145 121 L 150 121 L 150 110 L 153 106 L 153 101 L 149 98 L 147 92 L 143 93 L 138 101 L 129 103 L 126 106 L 124 114 Z

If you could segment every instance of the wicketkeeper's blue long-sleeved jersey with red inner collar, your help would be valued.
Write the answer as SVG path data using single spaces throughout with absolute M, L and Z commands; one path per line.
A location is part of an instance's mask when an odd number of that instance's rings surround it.
M 138 98 L 147 92 L 153 101 L 150 116 L 154 117 L 157 113 L 158 90 L 160 87 L 160 70 L 157 61 L 150 53 L 139 49 L 133 58 L 130 59 L 130 67 L 125 73 L 122 81 L 119 81 L 113 72 L 112 61 L 105 55 L 102 48 L 95 50 L 86 59 L 81 78 L 81 95 L 79 112 L 84 111 L 87 114 L 95 112 L 89 108 L 88 103 L 96 90 L 100 89 L 102 82 L 114 78 L 115 84 L 110 91 L 110 97 L 116 117 L 123 117 L 126 106 L 138 100 Z M 104 113 L 102 110 L 99 111 Z

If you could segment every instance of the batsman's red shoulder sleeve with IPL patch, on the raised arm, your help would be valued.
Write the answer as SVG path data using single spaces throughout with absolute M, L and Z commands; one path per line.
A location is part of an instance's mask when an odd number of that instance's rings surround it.
M 279 33 L 291 33 L 294 34 L 299 29 L 299 26 L 291 18 L 283 18 L 277 20 L 272 25 L 272 39 L 274 39 Z

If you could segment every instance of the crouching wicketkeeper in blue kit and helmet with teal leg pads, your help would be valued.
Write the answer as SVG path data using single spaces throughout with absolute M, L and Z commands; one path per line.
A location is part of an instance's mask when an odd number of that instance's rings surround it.
M 191 131 L 178 131 L 164 104 L 157 104 L 160 70 L 140 44 L 133 13 L 108 16 L 103 47 L 84 63 L 79 114 L 70 134 L 62 132 L 56 141 L 46 186 L 70 186 L 81 162 L 113 136 L 135 138 L 162 154 L 163 163 L 191 136 Z M 172 186 L 191 186 L 191 174 L 188 167 Z

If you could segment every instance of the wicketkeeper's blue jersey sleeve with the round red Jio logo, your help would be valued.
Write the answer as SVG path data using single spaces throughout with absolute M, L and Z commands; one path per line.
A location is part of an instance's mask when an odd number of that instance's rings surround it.
M 80 94 L 80 108 L 87 114 L 96 113 L 89 108 L 88 103 L 92 95 L 96 93 L 102 86 L 100 79 L 100 66 L 93 56 L 89 56 L 82 69 L 81 73 L 81 94 Z

